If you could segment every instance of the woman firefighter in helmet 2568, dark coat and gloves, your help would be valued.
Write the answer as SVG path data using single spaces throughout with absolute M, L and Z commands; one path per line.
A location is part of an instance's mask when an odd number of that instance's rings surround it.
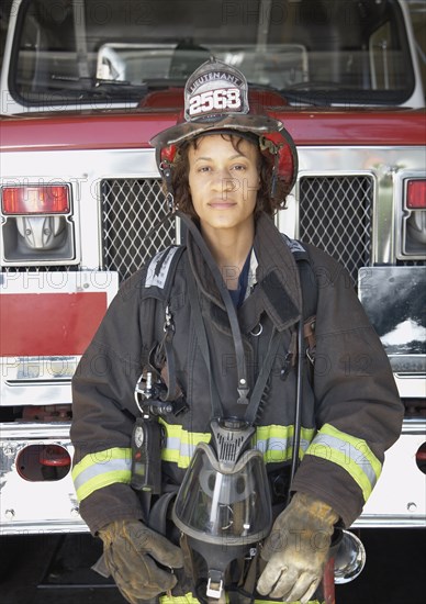
M 317 601 L 401 430 L 347 272 L 274 226 L 296 150 L 249 101 L 215 58 L 188 79 L 152 141 L 186 244 L 121 287 L 72 382 L 80 513 L 134 604 Z

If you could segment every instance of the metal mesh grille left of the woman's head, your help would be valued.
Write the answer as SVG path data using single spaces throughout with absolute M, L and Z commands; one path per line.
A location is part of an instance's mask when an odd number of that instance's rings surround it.
M 175 221 L 147 233 L 167 214 L 165 195 L 157 179 L 103 180 L 102 231 L 104 268 L 130 277 L 158 249 L 175 243 Z

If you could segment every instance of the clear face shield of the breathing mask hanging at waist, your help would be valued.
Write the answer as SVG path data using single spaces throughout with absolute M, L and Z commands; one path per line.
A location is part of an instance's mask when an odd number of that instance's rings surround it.
M 187 536 L 222 547 L 246 546 L 266 537 L 272 516 L 260 451 L 244 452 L 225 472 L 213 449 L 200 443 L 180 486 L 173 522 Z

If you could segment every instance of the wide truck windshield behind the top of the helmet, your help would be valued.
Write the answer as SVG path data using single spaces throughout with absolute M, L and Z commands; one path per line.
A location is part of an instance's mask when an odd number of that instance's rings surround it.
M 290 103 L 400 104 L 402 20 L 395 0 L 23 0 L 9 88 L 33 107 L 137 104 L 214 55 Z

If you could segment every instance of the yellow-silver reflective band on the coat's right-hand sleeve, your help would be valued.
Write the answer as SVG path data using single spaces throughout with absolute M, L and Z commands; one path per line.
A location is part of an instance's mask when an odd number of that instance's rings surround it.
M 382 465 L 362 438 L 324 424 L 306 455 L 326 459 L 346 470 L 361 489 L 365 501 L 380 477 Z

